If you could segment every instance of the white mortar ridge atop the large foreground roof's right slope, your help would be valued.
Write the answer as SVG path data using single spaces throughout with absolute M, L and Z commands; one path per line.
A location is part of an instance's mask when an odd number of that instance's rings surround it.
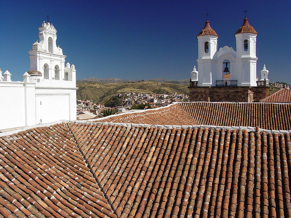
M 227 129 L 227 130 L 246 130 L 248 132 L 255 131 L 255 127 L 252 126 L 213 126 L 213 125 L 152 125 L 152 124 L 135 124 L 135 123 L 113 123 L 113 122 L 88 122 L 88 121 L 70 121 L 75 124 L 92 124 L 92 125 L 109 125 L 109 126 L 126 126 L 126 127 L 154 127 L 154 128 L 162 128 L 162 129 L 190 129 L 190 128 L 209 128 L 209 129 Z M 291 133 L 291 130 L 269 130 L 259 128 L 259 131 L 263 131 L 265 133 Z

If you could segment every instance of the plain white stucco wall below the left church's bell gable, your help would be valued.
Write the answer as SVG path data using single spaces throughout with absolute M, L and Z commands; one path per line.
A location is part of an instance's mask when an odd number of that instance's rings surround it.
M 0 81 L 0 129 L 77 119 L 77 88 L 36 84 Z

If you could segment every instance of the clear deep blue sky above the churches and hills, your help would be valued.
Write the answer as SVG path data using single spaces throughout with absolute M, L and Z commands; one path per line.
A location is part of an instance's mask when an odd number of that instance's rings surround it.
M 0 68 L 22 81 L 32 44 L 46 20 L 74 64 L 77 79 L 185 79 L 197 66 L 196 35 L 205 14 L 218 48 L 235 50 L 244 10 L 258 32 L 257 76 L 291 84 L 291 1 L 1 1 Z

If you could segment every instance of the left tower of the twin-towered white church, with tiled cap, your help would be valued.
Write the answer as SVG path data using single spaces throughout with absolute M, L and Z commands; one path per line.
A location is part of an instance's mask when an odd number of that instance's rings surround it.
M 213 57 L 217 52 L 217 39 L 219 36 L 210 27 L 209 21 L 196 36 L 198 39 L 198 86 L 211 86 L 212 73 L 216 70 Z

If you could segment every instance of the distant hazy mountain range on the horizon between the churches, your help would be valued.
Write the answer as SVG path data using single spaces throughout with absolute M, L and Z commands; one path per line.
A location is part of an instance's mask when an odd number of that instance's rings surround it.
M 94 83 L 136 83 L 143 80 L 129 80 L 129 79 L 119 79 L 119 78 L 108 78 L 108 79 L 99 79 L 94 77 L 89 77 L 86 79 L 79 79 L 76 81 L 76 83 L 88 83 L 88 82 L 94 82 Z M 189 85 L 189 79 L 182 79 L 182 80 L 174 80 L 174 79 L 150 79 L 148 81 L 155 81 L 159 83 L 174 83 L 174 84 L 180 84 L 180 85 Z

